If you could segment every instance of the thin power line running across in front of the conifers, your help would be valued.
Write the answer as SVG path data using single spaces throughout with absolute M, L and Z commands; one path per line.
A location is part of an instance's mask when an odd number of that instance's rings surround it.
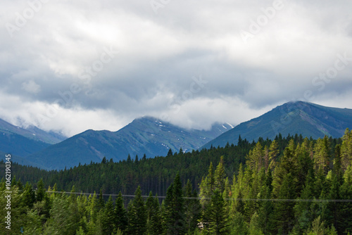
M 68 193 L 78 195 L 93 195 L 94 193 L 78 193 L 78 192 L 66 192 L 66 191 L 46 191 L 47 193 Z M 118 196 L 119 194 L 106 194 L 103 196 Z M 135 195 L 122 194 L 122 197 L 134 198 Z M 142 195 L 142 198 L 148 198 L 149 196 Z M 166 196 L 153 196 L 156 198 L 166 198 Z M 201 197 L 183 197 L 187 200 L 210 200 L 211 198 Z M 265 199 L 265 198 L 225 198 L 226 201 L 287 201 L 287 202 L 307 202 L 307 203 L 352 203 L 350 199 Z

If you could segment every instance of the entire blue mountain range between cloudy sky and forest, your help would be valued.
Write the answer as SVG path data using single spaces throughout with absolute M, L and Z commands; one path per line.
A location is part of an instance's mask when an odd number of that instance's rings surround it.
M 133 120 L 117 132 L 85 132 L 65 138 L 37 127 L 23 129 L 0 119 L 0 153 L 11 153 L 20 164 L 44 169 L 63 169 L 79 164 L 101 162 L 106 157 L 125 160 L 128 155 L 147 158 L 175 151 L 237 144 L 241 139 L 259 137 L 275 139 L 279 134 L 302 134 L 318 139 L 325 135 L 339 138 L 346 128 L 352 129 L 352 109 L 330 108 L 303 101 L 284 103 L 268 113 L 236 127 L 214 124 L 210 130 L 184 129 L 156 118 Z

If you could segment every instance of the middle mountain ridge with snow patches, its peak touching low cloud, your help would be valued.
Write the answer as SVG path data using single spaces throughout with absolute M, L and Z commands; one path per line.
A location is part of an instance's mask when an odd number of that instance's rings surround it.
M 143 117 L 133 120 L 117 132 L 107 130 L 85 132 L 61 143 L 49 146 L 26 159 L 49 169 L 73 167 L 79 163 L 101 162 L 103 157 L 114 161 L 132 158 L 144 153 L 148 158 L 173 152 L 191 151 L 206 144 L 216 136 L 231 129 L 229 124 L 215 124 L 208 130 L 184 129 L 156 118 Z

